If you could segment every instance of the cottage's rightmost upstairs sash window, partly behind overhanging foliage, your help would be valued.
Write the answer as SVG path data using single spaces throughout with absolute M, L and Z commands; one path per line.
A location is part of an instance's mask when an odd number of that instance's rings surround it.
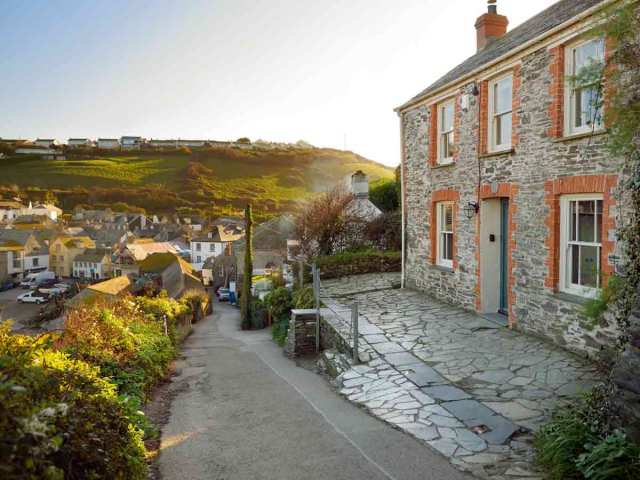
M 566 119 L 568 134 L 588 133 L 603 128 L 604 41 L 593 39 L 567 48 Z

